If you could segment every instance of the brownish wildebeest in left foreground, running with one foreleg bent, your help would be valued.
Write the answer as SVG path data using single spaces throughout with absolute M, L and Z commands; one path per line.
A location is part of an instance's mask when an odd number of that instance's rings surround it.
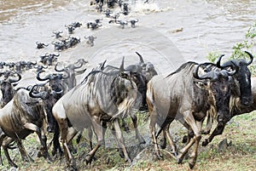
M 33 88 L 32 88 L 33 89 Z M 8 159 L 9 165 L 17 168 L 15 162 L 11 160 L 8 152 L 8 145 L 15 140 L 21 157 L 28 160 L 26 150 L 21 144 L 26 136 L 36 132 L 41 143 L 41 154 L 49 159 L 49 153 L 46 145 L 46 136 L 44 135 L 44 110 L 41 100 L 32 97 L 32 90 L 28 91 L 20 88 L 14 98 L 0 110 L 0 128 L 3 130 L 0 136 L 0 145 Z M 43 95 L 42 95 L 43 97 Z M 44 96 L 44 98 L 47 98 Z

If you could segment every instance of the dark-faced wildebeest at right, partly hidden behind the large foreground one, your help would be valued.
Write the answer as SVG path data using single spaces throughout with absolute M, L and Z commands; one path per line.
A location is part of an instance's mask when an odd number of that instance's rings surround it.
M 252 88 L 251 88 L 251 72 L 247 68 L 253 62 L 253 55 L 245 52 L 249 55 L 250 60 L 229 60 L 223 65 L 220 65 L 221 58 L 218 59 L 217 66 L 220 68 L 228 68 L 229 66 L 236 67 L 237 72 L 232 76 L 231 83 L 231 97 L 230 97 L 230 114 L 224 116 L 221 120 L 218 119 L 218 125 L 213 130 L 209 138 L 202 142 L 202 145 L 207 145 L 212 141 L 214 136 L 222 134 L 225 124 L 230 121 L 232 117 L 240 115 L 245 112 L 254 110 L 252 105 Z M 204 130 L 205 134 L 208 134 L 212 128 L 213 117 L 207 118 L 207 129 Z

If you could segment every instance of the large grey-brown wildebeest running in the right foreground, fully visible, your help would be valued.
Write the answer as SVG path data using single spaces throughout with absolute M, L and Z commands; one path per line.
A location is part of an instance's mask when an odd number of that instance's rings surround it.
M 197 149 L 201 140 L 201 124 L 207 111 L 210 109 L 217 111 L 219 118 L 229 113 L 229 76 L 235 72 L 210 71 L 199 76 L 199 69 L 204 65 L 206 64 L 198 65 L 195 62 L 187 62 L 167 77 L 154 76 L 148 82 L 147 88 L 149 128 L 157 157 L 160 157 L 160 151 L 155 134 L 156 123 L 169 140 L 178 163 L 183 161 L 189 148 L 195 144 L 190 156 L 190 168 L 195 166 Z M 176 145 L 169 132 L 170 124 L 174 119 L 179 120 L 186 128 L 191 128 L 193 131 L 193 138 L 179 151 L 179 154 L 177 154 Z

